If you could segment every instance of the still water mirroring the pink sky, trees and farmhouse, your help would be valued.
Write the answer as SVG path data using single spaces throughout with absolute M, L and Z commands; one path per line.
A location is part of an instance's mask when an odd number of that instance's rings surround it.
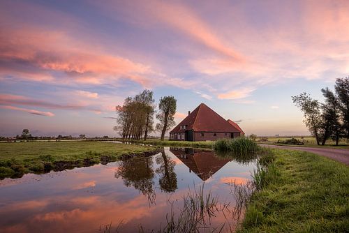
M 110 224 L 110 232 L 158 230 L 171 209 L 179 213 L 188 190 L 193 193 L 203 183 L 205 193 L 211 190 L 221 205 L 232 208 L 235 199 L 227 183 L 246 184 L 254 168 L 255 160 L 238 163 L 212 151 L 165 148 L 147 158 L 4 179 L 0 232 L 103 232 Z M 227 224 L 224 214 L 215 215 L 209 225 L 225 223 L 228 231 L 232 218 Z

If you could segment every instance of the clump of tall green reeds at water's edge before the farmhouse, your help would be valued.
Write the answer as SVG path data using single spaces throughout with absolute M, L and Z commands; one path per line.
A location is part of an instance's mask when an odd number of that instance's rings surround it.
M 230 151 L 235 154 L 248 154 L 258 152 L 260 146 L 247 137 L 235 139 L 222 139 L 214 143 L 215 151 Z

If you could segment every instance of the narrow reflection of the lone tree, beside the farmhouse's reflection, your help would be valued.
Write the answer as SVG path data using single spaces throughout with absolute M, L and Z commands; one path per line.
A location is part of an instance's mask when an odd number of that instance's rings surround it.
M 156 173 L 161 176 L 158 180 L 160 188 L 168 193 L 174 192 L 177 189 L 177 174 L 174 172 L 176 163 L 165 154 L 165 151 L 156 156 L 156 163 L 160 165 L 156 169 Z

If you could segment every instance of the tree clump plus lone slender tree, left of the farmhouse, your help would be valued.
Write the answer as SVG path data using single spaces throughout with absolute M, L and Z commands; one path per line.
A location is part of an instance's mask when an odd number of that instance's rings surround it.
M 161 140 L 165 133 L 174 126 L 174 114 L 177 110 L 177 100 L 173 96 L 164 96 L 156 110 L 154 93 L 145 89 L 136 96 L 125 99 L 124 105 L 118 105 L 117 126 L 123 140 L 147 140 L 149 133 L 161 131 Z M 159 123 L 154 126 L 154 115 Z

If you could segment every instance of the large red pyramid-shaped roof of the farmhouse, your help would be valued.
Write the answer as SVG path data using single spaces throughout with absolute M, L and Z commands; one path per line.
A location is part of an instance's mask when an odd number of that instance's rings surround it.
M 186 128 L 181 128 L 186 126 Z M 214 110 L 207 107 L 204 103 L 195 108 L 191 114 L 188 114 L 181 123 L 179 123 L 170 133 L 184 133 L 186 130 L 195 132 L 217 132 L 217 133 L 239 133 L 240 131 L 232 126 L 223 117 Z

